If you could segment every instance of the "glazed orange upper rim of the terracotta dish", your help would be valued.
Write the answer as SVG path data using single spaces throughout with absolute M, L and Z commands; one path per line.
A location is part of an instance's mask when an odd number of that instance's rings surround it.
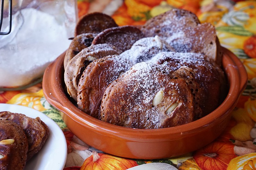
M 194 122 L 190 122 L 176 127 L 162 129 L 133 129 L 103 122 L 85 114 L 71 103 L 62 88 L 63 80 L 61 78 L 63 77 L 64 53 L 46 68 L 43 78 L 43 92 L 50 104 L 52 104 L 60 111 L 64 112 L 73 121 L 77 122 L 82 126 L 86 126 L 87 129 L 98 131 L 98 133 L 107 133 L 109 134 L 109 136 L 123 136 L 127 139 L 134 139 L 137 137 L 138 139 L 140 138 L 145 140 L 146 138 L 154 138 L 160 136 L 163 138 L 170 138 L 170 135 L 175 136 L 176 134 L 186 135 L 196 133 L 202 131 L 202 129 L 204 128 L 207 128 L 216 119 L 222 116 L 227 116 L 227 113 L 234 109 L 238 97 L 241 95 L 246 86 L 247 72 L 243 64 L 228 49 L 223 48 L 223 50 L 223 67 L 225 68 L 224 71 L 229 75 L 228 81 L 230 83 L 229 92 L 226 99 L 218 108 L 216 108 L 209 115 L 206 115 Z M 232 78 L 232 81 L 230 78 Z M 240 84 L 236 82 L 240 82 Z M 53 91 L 50 93 L 49 89 L 44 88 L 44 84 L 48 84 L 49 87 L 52 87 Z M 56 88 L 56 86 L 58 88 Z M 63 101 L 59 101 L 59 98 L 62 98 Z M 64 104 L 67 103 L 70 103 L 74 107 L 65 107 Z

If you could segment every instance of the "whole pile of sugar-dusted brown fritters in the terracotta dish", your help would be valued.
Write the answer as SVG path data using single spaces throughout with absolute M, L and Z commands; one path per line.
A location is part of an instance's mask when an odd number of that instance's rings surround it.
M 79 20 L 78 32 L 97 35 L 74 57 L 66 53 L 65 84 L 78 108 L 99 120 L 129 128 L 178 126 L 211 113 L 227 94 L 215 28 L 189 11 L 172 9 L 143 26 L 116 26 L 110 16 L 91 13 Z M 80 49 L 85 42 L 71 44 Z M 109 45 L 116 53 L 100 55 Z

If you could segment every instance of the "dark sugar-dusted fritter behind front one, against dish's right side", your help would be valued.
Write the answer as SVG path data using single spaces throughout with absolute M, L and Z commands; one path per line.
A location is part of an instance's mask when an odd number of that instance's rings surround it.
M 172 70 L 177 70 L 181 66 L 188 66 L 194 71 L 194 79 L 201 88 L 200 107 L 203 116 L 205 116 L 219 106 L 221 94 L 226 94 L 226 78 L 223 70 L 218 65 L 202 60 L 204 57 L 198 60 L 189 58 L 193 56 L 199 55 L 166 52 L 162 54 L 157 63 L 167 64 Z

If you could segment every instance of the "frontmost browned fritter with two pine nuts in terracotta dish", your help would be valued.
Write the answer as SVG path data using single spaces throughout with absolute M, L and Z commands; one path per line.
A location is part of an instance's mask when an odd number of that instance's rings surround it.
M 129 128 L 156 129 L 189 123 L 201 115 L 202 110 L 195 107 L 200 97 L 191 92 L 187 80 L 178 72 L 169 75 L 157 68 L 145 74 L 132 67 L 113 81 L 103 95 L 102 120 Z M 134 74 L 147 75 L 147 79 L 134 78 Z M 190 81 L 194 84 L 194 91 L 198 91 L 197 83 L 192 79 Z M 164 97 L 153 107 L 153 97 L 159 90 L 163 90 Z M 167 114 L 166 110 L 176 102 L 178 106 Z

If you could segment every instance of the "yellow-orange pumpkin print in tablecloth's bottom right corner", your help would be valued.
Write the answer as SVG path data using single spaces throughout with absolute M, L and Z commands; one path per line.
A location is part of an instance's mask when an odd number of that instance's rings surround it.
M 247 155 L 239 156 L 232 159 L 228 166 L 227 170 L 252 170 L 256 169 L 256 153 L 250 153 Z

